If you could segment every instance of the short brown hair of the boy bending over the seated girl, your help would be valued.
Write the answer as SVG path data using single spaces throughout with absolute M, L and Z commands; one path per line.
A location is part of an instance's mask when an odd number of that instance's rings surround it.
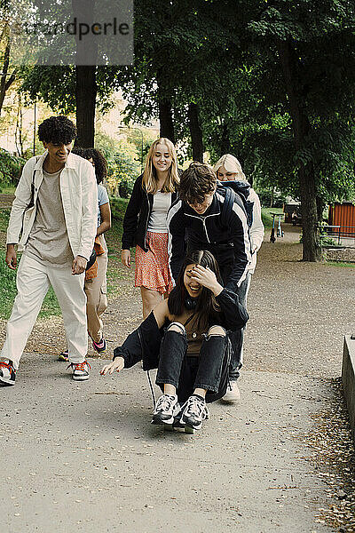
M 180 178 L 179 195 L 186 203 L 202 203 L 217 184 L 215 171 L 206 163 L 193 161 Z

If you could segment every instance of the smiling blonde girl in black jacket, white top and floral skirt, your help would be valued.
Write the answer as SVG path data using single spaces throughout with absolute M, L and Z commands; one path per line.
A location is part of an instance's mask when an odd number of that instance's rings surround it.
M 169 139 L 154 140 L 144 173 L 136 179 L 123 219 L 122 264 L 130 268 L 136 246 L 135 286 L 140 287 L 143 318 L 172 289 L 168 267 L 167 212 L 177 198 L 177 154 Z

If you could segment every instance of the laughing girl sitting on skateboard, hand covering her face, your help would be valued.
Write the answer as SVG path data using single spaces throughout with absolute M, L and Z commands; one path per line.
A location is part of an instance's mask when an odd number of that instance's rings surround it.
M 228 331 L 243 327 L 248 313 L 221 283 L 209 251 L 190 253 L 169 298 L 115 348 L 114 361 L 100 372 L 119 372 L 141 359 L 144 370 L 158 368 L 155 382 L 163 394 L 152 424 L 178 420 L 185 431 L 200 429 L 209 418 L 206 402 L 225 394 L 231 356 Z

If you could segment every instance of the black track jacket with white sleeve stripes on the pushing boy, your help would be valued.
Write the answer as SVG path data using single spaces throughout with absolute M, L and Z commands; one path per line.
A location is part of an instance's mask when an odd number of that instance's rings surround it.
M 180 199 L 168 211 L 170 274 L 175 282 L 186 251 L 209 250 L 217 259 L 225 287 L 236 292 L 248 273 L 251 260 L 247 214 L 241 198 L 235 197 L 229 225 L 221 211 L 225 187 L 219 187 L 209 209 L 199 215 Z

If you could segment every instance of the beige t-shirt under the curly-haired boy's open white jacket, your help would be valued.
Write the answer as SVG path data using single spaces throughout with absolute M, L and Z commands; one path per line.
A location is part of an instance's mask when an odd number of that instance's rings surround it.
M 73 252 L 61 201 L 60 171 L 43 171 L 38 190 L 36 219 L 28 237 L 26 253 L 49 267 L 71 267 Z

